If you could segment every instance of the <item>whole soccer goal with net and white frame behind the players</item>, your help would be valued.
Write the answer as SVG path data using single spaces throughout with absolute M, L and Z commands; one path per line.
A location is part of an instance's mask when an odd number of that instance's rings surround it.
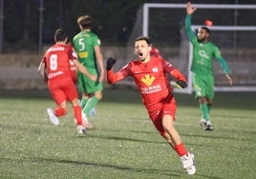
M 215 90 L 256 91 L 256 5 L 193 4 L 198 8 L 192 16 L 194 30 L 206 19 L 213 21 L 210 41 L 216 44 L 226 60 L 234 85 L 229 86 L 224 71 L 214 60 Z M 190 72 L 192 47 L 184 30 L 185 4 L 144 4 L 119 67 L 133 59 L 133 42 L 139 35 L 150 36 L 161 56 L 181 70 L 188 79 L 188 88 L 177 92 L 191 93 Z M 170 79 L 172 80 L 172 79 Z M 132 80 L 124 81 L 133 85 Z

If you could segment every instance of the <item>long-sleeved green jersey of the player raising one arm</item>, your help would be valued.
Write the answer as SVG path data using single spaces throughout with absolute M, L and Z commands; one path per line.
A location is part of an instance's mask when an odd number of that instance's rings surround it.
M 198 41 L 198 38 L 194 31 L 191 29 L 191 15 L 187 15 L 185 19 L 186 33 L 190 42 L 193 45 L 193 60 L 191 70 L 200 75 L 212 75 L 213 74 L 213 58 L 216 58 L 221 67 L 224 69 L 224 73 L 228 73 L 227 64 L 222 57 L 221 51 L 211 42 L 202 43 Z

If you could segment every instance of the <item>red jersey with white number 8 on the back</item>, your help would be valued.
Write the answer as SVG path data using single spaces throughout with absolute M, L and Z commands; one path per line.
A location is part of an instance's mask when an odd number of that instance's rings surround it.
M 55 44 L 46 51 L 42 61 L 46 64 L 48 79 L 58 79 L 71 75 L 70 60 L 77 58 L 75 50 L 69 46 Z

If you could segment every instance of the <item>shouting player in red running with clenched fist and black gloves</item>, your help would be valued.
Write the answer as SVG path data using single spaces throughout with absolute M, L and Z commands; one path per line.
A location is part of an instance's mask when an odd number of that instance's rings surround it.
M 194 174 L 196 172 L 194 155 L 185 149 L 181 137 L 174 127 L 176 101 L 167 87 L 165 74 L 175 77 L 181 88 L 186 87 L 186 79 L 169 62 L 151 56 L 151 50 L 151 40 L 146 36 L 138 37 L 135 42 L 135 53 L 138 55 L 138 59 L 114 72 L 113 66 L 116 60 L 109 58 L 107 60 L 107 81 L 109 84 L 115 84 L 128 76 L 134 79 L 154 126 L 179 154 L 183 169 L 188 174 Z

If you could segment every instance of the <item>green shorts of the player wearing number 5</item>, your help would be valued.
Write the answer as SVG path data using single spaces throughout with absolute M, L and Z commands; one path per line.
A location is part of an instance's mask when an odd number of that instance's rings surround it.
M 96 72 L 90 71 L 92 74 Z M 103 84 L 98 82 L 98 80 L 93 81 L 88 76 L 84 75 L 81 72 L 77 72 L 77 81 L 78 81 L 78 90 L 80 92 L 94 93 L 96 91 L 103 90 Z

